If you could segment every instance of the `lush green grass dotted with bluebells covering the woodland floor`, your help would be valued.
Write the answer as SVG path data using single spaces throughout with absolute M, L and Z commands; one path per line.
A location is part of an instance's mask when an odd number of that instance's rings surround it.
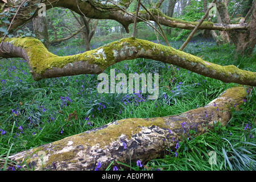
M 105 42 L 104 42 L 105 43 Z M 179 48 L 182 42 L 170 42 Z M 94 45 L 101 46 L 100 44 Z M 52 47 L 56 55 L 73 55 L 83 48 Z M 234 64 L 255 71 L 253 57 L 233 59 L 234 47 L 216 46 L 210 40 L 194 40 L 185 52 L 221 65 Z M 213 80 L 185 69 L 147 59 L 122 61 L 105 70 L 116 74 L 159 73 L 159 97 L 148 100 L 143 94 L 100 94 L 97 75 L 79 75 L 34 81 L 27 64 L 20 59 L 0 62 L 0 156 L 15 154 L 36 146 L 82 133 L 123 118 L 151 118 L 183 113 L 204 106 L 224 90 L 236 85 Z M 255 169 L 255 88 L 247 93 L 240 111 L 232 110 L 225 127 L 216 124 L 213 131 L 179 143 L 176 151 L 166 148 L 162 159 L 155 159 L 139 168 L 136 164 L 118 163 L 134 170 L 253 170 Z M 68 119 L 76 111 L 76 117 Z M 250 124 L 250 129 L 243 130 Z M 21 126 L 21 127 L 20 127 Z M 22 129 L 21 129 L 22 128 Z M 231 134 L 230 134 L 231 133 Z M 209 152 L 216 152 L 216 164 L 209 164 Z M 175 152 L 177 157 L 175 157 Z M 6 164 L 9 163 L 7 160 Z M 108 168 L 112 170 L 111 168 Z

